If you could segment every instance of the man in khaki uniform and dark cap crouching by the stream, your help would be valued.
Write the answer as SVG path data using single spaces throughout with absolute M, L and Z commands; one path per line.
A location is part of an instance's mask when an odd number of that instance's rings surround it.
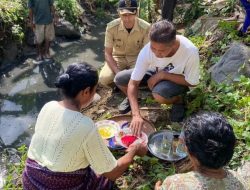
M 121 70 L 133 68 L 140 50 L 148 43 L 150 24 L 137 17 L 136 0 L 120 0 L 120 18 L 107 24 L 105 34 L 105 65 L 99 83 L 109 86 Z

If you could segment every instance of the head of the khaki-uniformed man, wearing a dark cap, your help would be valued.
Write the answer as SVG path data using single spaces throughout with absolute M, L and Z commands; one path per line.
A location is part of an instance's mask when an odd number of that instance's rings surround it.
M 137 13 L 136 0 L 120 0 L 118 5 L 118 13 L 127 29 L 134 27 Z

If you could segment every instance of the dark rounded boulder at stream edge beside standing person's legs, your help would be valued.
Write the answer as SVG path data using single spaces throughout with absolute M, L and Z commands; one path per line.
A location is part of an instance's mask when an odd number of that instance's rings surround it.
M 55 26 L 56 36 L 63 36 L 68 39 L 79 39 L 81 38 L 81 33 L 79 30 L 68 21 L 60 21 L 59 24 Z

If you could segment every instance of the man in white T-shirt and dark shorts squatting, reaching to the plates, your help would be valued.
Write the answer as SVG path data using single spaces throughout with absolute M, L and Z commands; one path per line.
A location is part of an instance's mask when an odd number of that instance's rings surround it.
M 116 74 L 115 84 L 127 95 L 119 109 L 132 109 L 131 128 L 139 135 L 143 125 L 137 96 L 139 84 L 147 84 L 155 100 L 173 104 L 170 120 L 184 118 L 183 95 L 199 83 L 199 52 L 186 37 L 176 35 L 174 25 L 162 20 L 152 25 L 150 42 L 140 51 L 134 69 Z M 130 104 L 129 104 L 130 103 Z M 124 113 L 124 112 L 123 112 Z

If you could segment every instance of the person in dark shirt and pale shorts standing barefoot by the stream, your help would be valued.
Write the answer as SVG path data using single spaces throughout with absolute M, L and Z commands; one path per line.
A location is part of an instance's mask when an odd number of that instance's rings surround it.
M 28 8 L 38 49 L 37 61 L 50 59 L 50 42 L 55 38 L 53 0 L 28 0 Z

